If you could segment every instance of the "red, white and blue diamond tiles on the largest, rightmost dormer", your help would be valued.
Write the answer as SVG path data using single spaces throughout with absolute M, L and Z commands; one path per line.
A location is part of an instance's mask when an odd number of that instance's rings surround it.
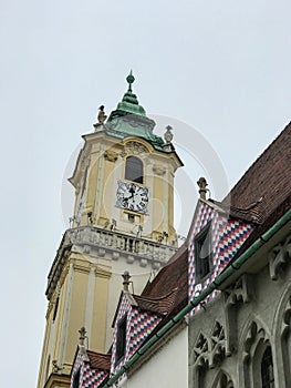
M 200 285 L 196 285 L 195 279 L 195 237 L 196 235 L 211 222 L 212 247 L 214 247 L 214 270 L 211 275 Z M 249 237 L 253 227 L 242 221 L 227 219 L 219 215 L 211 206 L 205 202 L 199 202 L 196 211 L 196 221 L 194 223 L 189 245 L 188 245 L 188 298 L 194 299 L 195 294 L 204 290 L 211 282 L 214 282 L 221 270 L 235 256 L 245 241 Z M 214 290 L 206 298 L 205 303 L 216 297 L 218 290 Z M 190 315 L 200 309 L 197 306 Z

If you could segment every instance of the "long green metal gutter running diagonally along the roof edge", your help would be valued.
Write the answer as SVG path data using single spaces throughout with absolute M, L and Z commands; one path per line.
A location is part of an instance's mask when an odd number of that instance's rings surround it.
M 118 378 L 125 374 L 133 364 L 135 364 L 160 337 L 163 337 L 174 325 L 180 321 L 190 310 L 198 306 L 208 295 L 217 289 L 230 275 L 238 270 L 249 257 L 251 257 L 259 248 L 269 242 L 274 234 L 281 229 L 289 221 L 291 221 L 291 210 L 289 210 L 281 218 L 277 221 L 263 235 L 261 235 L 246 252 L 241 254 L 233 263 L 229 265 L 212 283 L 207 286 L 199 296 L 195 297 L 185 306 L 174 318 L 172 318 L 164 327 L 162 327 L 145 345 L 143 345 L 124 366 L 108 379 L 103 386 L 112 387 Z

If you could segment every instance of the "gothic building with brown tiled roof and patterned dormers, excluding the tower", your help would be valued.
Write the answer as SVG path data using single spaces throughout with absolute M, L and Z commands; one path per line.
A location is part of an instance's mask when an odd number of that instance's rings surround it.
M 72 388 L 290 387 L 290 145 L 288 125 L 221 203 L 201 195 L 186 244 L 122 293 L 107 369 L 80 346 Z

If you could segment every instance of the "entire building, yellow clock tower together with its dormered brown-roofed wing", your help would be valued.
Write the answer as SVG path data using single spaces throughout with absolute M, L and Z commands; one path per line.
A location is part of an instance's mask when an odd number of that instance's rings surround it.
M 181 162 L 170 127 L 154 135 L 133 81 L 83 136 L 72 227 L 49 274 L 39 387 L 290 387 L 291 124 L 222 202 L 197 182 L 177 248 Z

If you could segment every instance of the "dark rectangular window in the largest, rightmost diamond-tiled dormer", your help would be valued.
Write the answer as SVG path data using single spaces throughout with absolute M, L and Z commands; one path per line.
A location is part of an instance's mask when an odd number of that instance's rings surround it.
M 195 238 L 195 276 L 201 283 L 212 270 L 212 236 L 209 223 Z

